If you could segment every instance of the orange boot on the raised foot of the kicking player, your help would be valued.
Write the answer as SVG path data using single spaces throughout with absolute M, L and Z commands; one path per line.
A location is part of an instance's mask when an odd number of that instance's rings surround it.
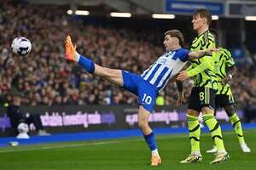
M 65 59 L 77 61 L 76 46 L 73 46 L 73 42 L 70 36 L 67 36 L 65 41 Z

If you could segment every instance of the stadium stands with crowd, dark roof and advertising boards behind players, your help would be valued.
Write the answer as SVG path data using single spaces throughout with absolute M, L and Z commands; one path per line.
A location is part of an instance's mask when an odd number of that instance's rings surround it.
M 2 1 L 0 17 L 0 101 L 9 103 L 13 91 L 22 96 L 22 111 L 40 114 L 50 133 L 137 128 L 136 96 L 102 79 L 93 79 L 80 66 L 63 59 L 63 40 L 71 34 L 80 54 L 96 63 L 142 73 L 164 52 L 163 33 L 183 31 L 189 48 L 195 32 L 190 24 L 195 8 L 209 8 L 218 20 L 219 44 L 229 48 L 238 71 L 231 82 L 239 115 L 255 122 L 256 47 L 254 1 Z M 189 6 L 189 8 L 188 8 Z M 87 10 L 89 15 L 76 14 Z M 111 17 L 113 11 L 130 18 Z M 174 19 L 154 19 L 152 14 L 175 14 Z M 10 51 L 17 36 L 28 37 L 32 53 L 19 57 Z M 186 98 L 191 81 L 184 83 Z M 160 94 L 164 106 L 156 107 L 153 127 L 185 127 L 186 107 L 175 108 L 175 85 Z M 0 136 L 13 135 L 5 108 L 0 110 Z M 159 114 L 162 113 L 162 114 Z M 223 111 L 218 119 L 228 122 Z

